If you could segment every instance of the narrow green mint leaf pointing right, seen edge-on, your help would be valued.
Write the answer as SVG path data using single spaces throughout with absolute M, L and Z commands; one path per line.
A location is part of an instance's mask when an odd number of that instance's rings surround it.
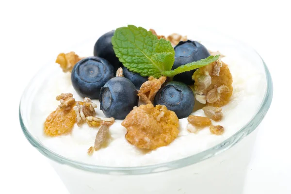
M 218 59 L 219 59 L 219 55 L 209 56 L 206 59 L 201 59 L 200 61 L 195 61 L 195 62 L 186 64 L 186 65 L 181 65 L 174 70 L 164 71 L 164 72 L 162 72 L 162 75 L 167 76 L 167 77 L 174 77 L 179 73 L 183 73 L 185 71 L 191 71 L 191 70 L 197 69 L 199 67 L 209 65 L 210 63 L 213 63 L 214 61 L 216 61 Z

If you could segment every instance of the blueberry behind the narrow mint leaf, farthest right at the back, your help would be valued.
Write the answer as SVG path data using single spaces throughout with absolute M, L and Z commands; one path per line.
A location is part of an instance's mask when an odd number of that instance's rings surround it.
M 172 69 L 210 56 L 209 51 L 197 41 L 180 41 L 175 49 L 175 62 Z M 192 75 L 195 70 L 180 73 L 174 77 L 175 81 L 182 81 L 188 85 L 194 84 Z

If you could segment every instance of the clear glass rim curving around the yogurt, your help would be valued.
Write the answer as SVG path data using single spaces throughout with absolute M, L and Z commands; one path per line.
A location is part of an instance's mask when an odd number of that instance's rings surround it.
M 256 52 L 257 55 L 260 57 L 259 53 L 256 50 L 254 50 L 254 52 Z M 64 156 L 61 156 L 49 150 L 47 147 L 43 146 L 29 132 L 29 130 L 27 129 L 27 127 L 25 126 L 23 122 L 23 115 L 21 114 L 21 103 L 22 103 L 23 97 L 21 97 L 20 105 L 19 105 L 20 125 L 27 140 L 32 144 L 32 146 L 34 146 L 44 156 L 46 156 L 52 161 L 55 161 L 61 164 L 66 164 L 66 165 L 69 165 L 81 170 L 86 170 L 86 171 L 100 173 L 100 174 L 116 173 L 116 174 L 121 174 L 121 175 L 138 175 L 138 174 L 149 174 L 149 173 L 156 173 L 156 172 L 182 168 L 182 167 L 209 159 L 211 157 L 216 156 L 217 154 L 220 154 L 226 151 L 227 149 L 236 145 L 244 137 L 246 137 L 248 134 L 250 134 L 253 130 L 255 130 L 258 127 L 258 125 L 260 124 L 260 122 L 262 121 L 266 113 L 268 112 L 271 102 L 272 102 L 272 97 L 273 97 L 273 83 L 272 83 L 270 72 L 265 62 L 263 61 L 263 59 L 261 57 L 260 59 L 262 61 L 262 65 L 264 66 L 264 70 L 266 74 L 267 89 L 257 113 L 254 114 L 252 119 L 245 126 L 243 126 L 242 129 L 240 129 L 238 132 L 236 132 L 235 134 L 233 134 L 232 136 L 230 136 L 229 138 L 227 138 L 225 141 L 221 142 L 220 144 L 213 146 L 203 152 L 200 152 L 200 153 L 197 153 L 192 156 L 182 158 L 176 161 L 165 162 L 165 163 L 160 163 L 160 164 L 155 164 L 155 165 L 136 166 L 136 167 L 110 167 L 110 166 L 98 166 L 98 165 L 93 165 L 93 164 L 88 164 L 88 163 L 83 163 L 83 162 L 77 162 L 77 161 L 65 158 Z M 29 85 L 27 86 L 27 88 L 28 87 Z M 25 91 L 27 90 L 27 88 L 25 89 Z

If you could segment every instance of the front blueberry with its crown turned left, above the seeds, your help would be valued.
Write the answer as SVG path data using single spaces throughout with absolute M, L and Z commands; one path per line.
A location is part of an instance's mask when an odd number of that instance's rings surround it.
M 101 88 L 100 110 L 107 117 L 125 119 L 133 107 L 138 105 L 138 100 L 133 83 L 127 78 L 115 77 Z

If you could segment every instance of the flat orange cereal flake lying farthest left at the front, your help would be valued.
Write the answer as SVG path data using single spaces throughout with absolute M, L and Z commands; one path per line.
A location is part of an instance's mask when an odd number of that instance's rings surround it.
M 57 136 L 71 132 L 76 123 L 76 113 L 71 106 L 70 109 L 58 107 L 50 113 L 44 124 L 44 132 L 48 136 Z

